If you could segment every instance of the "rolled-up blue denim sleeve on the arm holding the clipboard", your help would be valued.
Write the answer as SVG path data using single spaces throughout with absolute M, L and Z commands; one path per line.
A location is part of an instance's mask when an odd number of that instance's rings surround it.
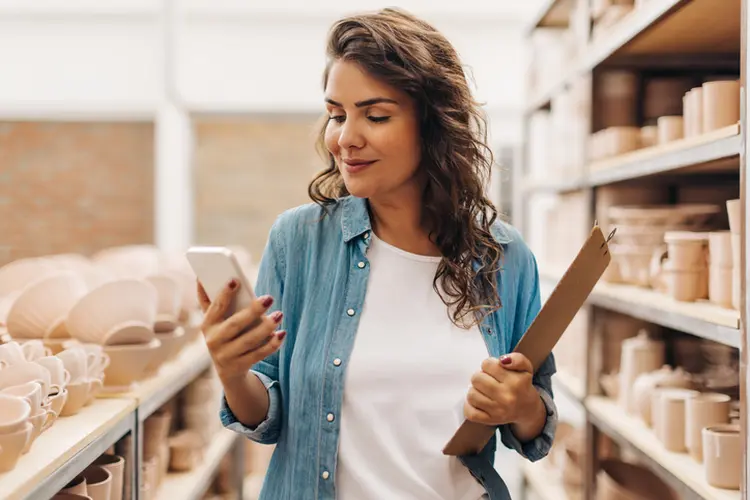
M 516 298 L 515 321 L 513 324 L 513 346 L 521 340 L 526 330 L 536 318 L 541 309 L 541 296 L 539 292 L 539 271 L 536 259 L 525 244 L 524 254 L 519 256 L 518 266 L 522 269 L 518 283 L 518 296 Z M 550 354 L 537 369 L 532 383 L 539 392 L 547 412 L 547 419 L 542 432 L 531 441 L 521 442 L 509 425 L 500 426 L 500 437 L 505 446 L 516 450 L 521 456 L 532 462 L 546 457 L 552 447 L 557 430 L 557 405 L 552 392 L 552 375 L 556 372 L 555 357 Z

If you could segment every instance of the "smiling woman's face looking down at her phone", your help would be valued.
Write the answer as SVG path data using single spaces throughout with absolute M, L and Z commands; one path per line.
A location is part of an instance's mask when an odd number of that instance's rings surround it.
M 406 93 L 356 63 L 333 63 L 325 143 L 353 196 L 389 197 L 416 185 L 421 147 L 415 108 Z

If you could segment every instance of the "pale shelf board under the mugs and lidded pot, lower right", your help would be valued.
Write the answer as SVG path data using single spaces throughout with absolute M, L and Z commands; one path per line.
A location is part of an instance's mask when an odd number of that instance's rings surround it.
M 702 464 L 685 453 L 667 451 L 651 429 L 627 415 L 617 404 L 603 397 L 586 399 L 589 418 L 600 430 L 621 445 L 640 452 L 639 458 L 673 486 L 683 498 L 739 500 L 740 492 L 713 488 L 706 483 Z

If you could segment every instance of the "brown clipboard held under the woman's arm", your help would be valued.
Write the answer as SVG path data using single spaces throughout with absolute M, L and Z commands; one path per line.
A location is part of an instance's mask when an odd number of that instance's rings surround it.
M 615 231 L 616 229 L 605 239 L 595 223 L 573 263 L 518 342 L 514 352 L 520 352 L 529 358 L 535 371 L 552 352 L 607 269 L 612 258 L 608 243 Z M 495 427 L 464 420 L 443 448 L 443 454 L 476 455 L 487 445 L 495 431 Z

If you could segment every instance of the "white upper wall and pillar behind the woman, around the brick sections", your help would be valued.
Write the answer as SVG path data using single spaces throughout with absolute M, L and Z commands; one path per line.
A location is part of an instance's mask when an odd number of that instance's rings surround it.
M 190 114 L 319 112 L 331 22 L 370 0 L 0 0 L 0 120 L 157 122 L 157 241 L 190 242 Z M 534 2 L 406 0 L 454 43 L 491 144 L 519 142 Z

